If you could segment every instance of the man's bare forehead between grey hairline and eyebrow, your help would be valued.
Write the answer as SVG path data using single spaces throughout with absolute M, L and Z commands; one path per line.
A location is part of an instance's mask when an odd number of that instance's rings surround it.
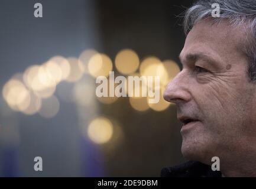
M 218 24 L 201 21 L 187 35 L 180 58 L 184 60 L 188 54 L 197 53 L 208 54 L 223 62 L 241 58 L 244 56 L 241 51 L 243 39 L 242 27 L 234 28 L 225 20 Z

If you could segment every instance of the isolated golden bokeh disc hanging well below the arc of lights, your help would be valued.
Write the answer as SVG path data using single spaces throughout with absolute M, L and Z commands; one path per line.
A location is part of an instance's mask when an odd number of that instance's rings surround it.
M 96 118 L 88 126 L 88 136 L 96 144 L 105 144 L 113 135 L 113 125 L 107 118 Z

